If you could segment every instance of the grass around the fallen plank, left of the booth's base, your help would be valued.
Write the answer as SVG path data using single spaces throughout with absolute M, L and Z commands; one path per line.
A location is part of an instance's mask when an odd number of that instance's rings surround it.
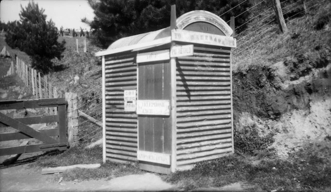
M 74 147 L 65 152 L 48 152 L 45 153 L 44 156 L 38 158 L 36 162 L 34 162 L 31 166 L 46 168 L 97 163 L 101 164 L 100 168 L 76 168 L 63 172 L 58 177 L 63 177 L 64 181 L 88 181 L 92 179 L 112 179 L 126 175 L 145 173 L 138 168 L 137 164 L 119 164 L 114 162 L 106 162 L 105 164 L 103 164 L 101 147 L 94 147 L 91 149 Z M 55 180 L 58 179 L 58 177 L 55 178 Z

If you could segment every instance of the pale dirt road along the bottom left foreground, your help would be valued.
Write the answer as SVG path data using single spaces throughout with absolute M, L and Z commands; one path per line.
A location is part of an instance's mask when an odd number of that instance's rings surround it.
M 59 182 L 58 175 L 41 175 L 41 168 L 29 164 L 0 169 L 1 192 L 117 192 L 173 191 L 175 187 L 152 173 L 130 175 L 106 181 Z

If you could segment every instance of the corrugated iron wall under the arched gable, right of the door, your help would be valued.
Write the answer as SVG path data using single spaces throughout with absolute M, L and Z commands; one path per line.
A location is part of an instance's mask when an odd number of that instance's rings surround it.
M 232 152 L 230 49 L 194 45 L 176 84 L 177 169 Z

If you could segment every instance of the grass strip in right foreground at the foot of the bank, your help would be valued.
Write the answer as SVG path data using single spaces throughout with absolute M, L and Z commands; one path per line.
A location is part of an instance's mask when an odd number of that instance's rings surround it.
M 189 191 L 203 187 L 222 187 L 236 182 L 254 186 L 249 191 L 313 191 L 331 188 L 331 167 L 327 159 L 314 154 L 302 158 L 302 152 L 291 159 L 265 159 L 258 164 L 249 161 L 250 156 L 233 154 L 210 162 L 196 164 L 191 171 L 176 172 L 165 181 Z M 308 163 L 311 162 L 312 164 Z

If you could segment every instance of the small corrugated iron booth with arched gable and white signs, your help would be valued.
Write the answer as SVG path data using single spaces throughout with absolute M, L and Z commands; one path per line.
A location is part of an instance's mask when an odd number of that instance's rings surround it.
M 195 10 L 102 56 L 103 160 L 169 174 L 233 152 L 232 29 Z

